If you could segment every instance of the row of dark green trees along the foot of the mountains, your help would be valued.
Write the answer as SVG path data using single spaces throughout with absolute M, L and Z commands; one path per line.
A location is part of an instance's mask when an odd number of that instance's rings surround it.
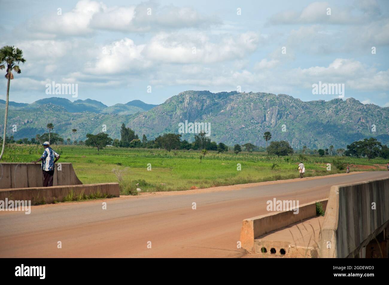
M 19 140 L 14 140 L 14 137 L 5 137 L 5 144 L 7 143 L 23 143 L 23 144 L 42 144 L 43 142 L 50 142 L 54 145 L 62 144 L 73 144 L 73 145 L 87 145 L 91 147 L 96 147 L 97 150 L 103 149 L 107 145 L 113 145 L 115 147 L 125 147 L 125 148 L 147 148 L 147 149 L 166 149 L 170 150 L 204 150 L 205 153 L 208 150 L 216 150 L 218 153 L 227 152 L 229 147 L 224 143 L 212 142 L 209 137 L 205 136 L 204 132 L 198 133 L 195 135 L 193 142 L 188 142 L 187 140 L 181 140 L 180 134 L 174 133 L 165 133 L 159 135 L 154 140 L 148 140 L 147 136 L 143 134 L 142 139 L 139 138 L 135 131 L 131 128 L 126 128 L 124 123 L 121 125 L 120 129 L 120 140 L 112 139 L 107 133 L 98 133 L 97 135 L 87 134 L 85 142 L 83 140 L 75 140 L 74 135 L 77 132 L 77 129 L 72 129 L 73 142 L 70 138 L 67 138 L 65 141 L 57 133 L 52 133 L 54 125 L 52 123 L 47 124 L 48 133 L 43 135 L 36 135 L 35 138 L 23 138 Z M 268 145 L 268 141 L 271 140 L 272 134 L 269 131 L 263 133 L 263 139 L 266 141 L 266 148 L 258 147 L 252 143 L 245 143 L 243 145 L 235 144 L 233 152 L 238 154 L 242 151 L 242 148 L 247 152 L 253 151 L 266 151 L 268 154 L 277 155 L 277 156 L 287 156 L 293 154 L 294 150 L 289 145 L 289 142 L 285 140 L 273 141 Z M 330 145 L 326 149 L 308 149 L 307 146 L 303 146 L 301 150 L 302 154 L 319 154 L 319 156 L 333 155 L 334 146 Z M 338 156 L 354 156 L 354 157 L 367 157 L 369 160 L 375 157 L 382 157 L 384 159 L 389 159 L 389 147 L 387 145 L 382 145 L 381 142 L 378 142 L 375 138 L 365 138 L 364 140 L 359 140 L 356 142 L 347 145 L 347 149 L 336 149 Z

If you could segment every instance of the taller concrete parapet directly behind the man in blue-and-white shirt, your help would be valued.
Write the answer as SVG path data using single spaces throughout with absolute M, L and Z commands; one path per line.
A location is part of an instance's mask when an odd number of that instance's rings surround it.
M 0 163 L 0 189 L 42 187 L 40 167 L 40 163 Z M 71 163 L 55 164 L 53 186 L 81 184 Z

